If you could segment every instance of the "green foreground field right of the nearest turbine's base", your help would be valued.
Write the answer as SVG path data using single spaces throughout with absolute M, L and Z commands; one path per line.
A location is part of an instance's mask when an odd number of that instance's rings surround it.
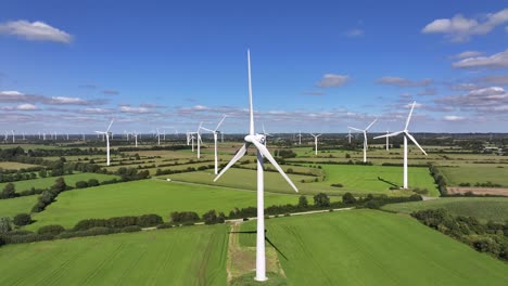
M 242 231 L 255 230 L 255 222 Z M 269 219 L 291 285 L 506 285 L 508 265 L 408 217 L 336 211 Z M 254 246 L 255 234 L 238 234 Z M 269 243 L 267 243 L 269 247 Z

